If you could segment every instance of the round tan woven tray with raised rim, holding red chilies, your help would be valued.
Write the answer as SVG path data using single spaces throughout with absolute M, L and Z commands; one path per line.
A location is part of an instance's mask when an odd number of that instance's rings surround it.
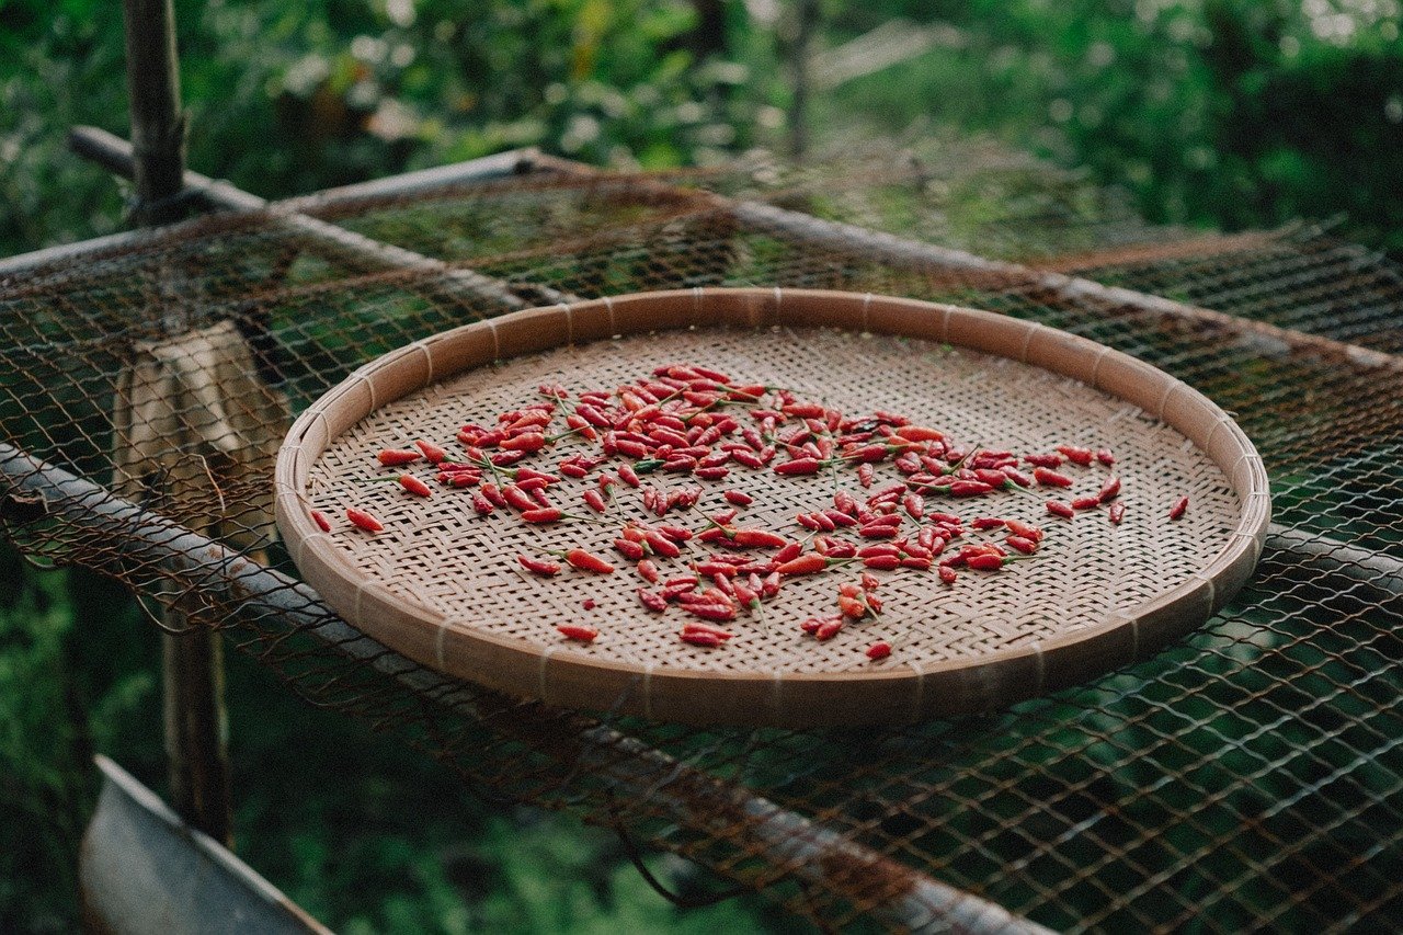
M 375 453 L 427 438 L 455 446 L 464 423 L 537 402 L 537 387 L 613 389 L 654 365 L 687 361 L 738 382 L 793 387 L 845 413 L 897 410 L 965 445 L 1051 451 L 1108 448 L 1124 480 L 1125 519 L 1104 510 L 1049 517 L 1041 497 L 999 493 L 932 510 L 1009 515 L 1047 538 L 1034 560 L 954 585 L 933 573 L 884 574 L 882 614 L 817 642 L 798 625 L 831 614 L 831 570 L 796 577 L 765 608 L 727 626 L 721 649 L 678 639 L 686 615 L 640 606 L 644 584 L 610 552 L 610 522 L 533 526 L 511 511 L 478 517 L 469 491 L 429 498 L 377 483 L 398 470 Z M 558 424 L 558 423 L 557 423 Z M 460 449 L 460 446 L 457 446 Z M 523 465 L 551 470 L 598 445 L 561 439 Z M 422 466 L 421 466 L 422 468 Z M 421 476 L 429 476 L 419 470 Z M 1093 491 L 1107 469 L 1073 472 Z M 895 475 L 882 476 L 880 483 Z M 694 484 L 652 475 L 659 487 Z M 571 486 L 574 484 L 574 486 Z M 571 512 L 593 480 L 551 497 Z M 779 477 L 745 470 L 702 483 L 755 494 L 749 526 L 798 538 L 794 515 L 857 494 L 852 472 Z M 637 493 L 637 491 L 627 491 Z M 1065 491 L 1038 491 L 1051 496 Z M 1188 496 L 1180 519 L 1172 503 Z M 615 510 L 638 521 L 637 497 Z M 384 522 L 368 535 L 345 519 Z M 1216 612 L 1251 574 L 1270 514 L 1261 460 L 1232 418 L 1166 373 L 1040 324 L 923 302 L 838 292 L 697 289 L 521 312 L 394 351 L 352 373 L 293 425 L 276 470 L 278 524 L 304 577 L 349 622 L 405 656 L 518 696 L 690 723 L 860 724 L 982 710 L 1076 684 L 1159 650 Z M 310 515 L 331 518 L 323 532 Z M 672 517 L 669 521 L 676 521 Z M 700 517 L 683 519 L 703 528 Z M 584 546 L 615 574 L 565 569 L 540 578 L 519 553 Z M 680 566 L 679 566 L 680 567 Z M 556 628 L 585 623 L 593 643 Z M 864 649 L 887 640 L 873 661 Z

